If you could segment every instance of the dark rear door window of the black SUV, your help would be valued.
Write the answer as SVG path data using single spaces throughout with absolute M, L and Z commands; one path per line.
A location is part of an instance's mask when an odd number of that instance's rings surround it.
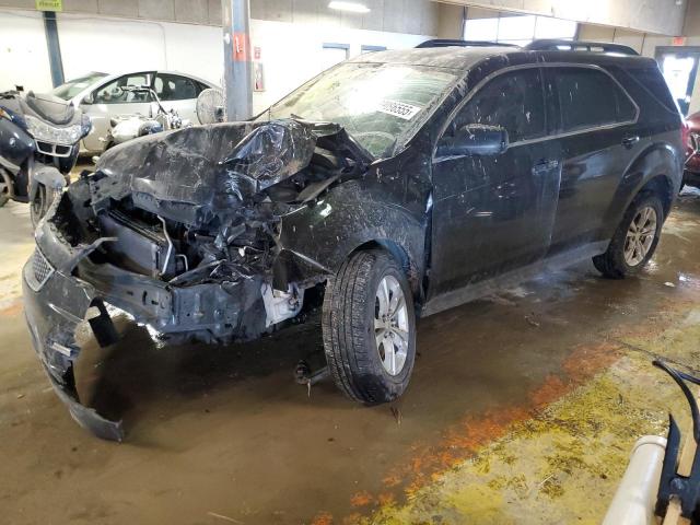
M 606 73 L 592 68 L 549 71 L 561 120 L 558 131 L 570 132 L 637 118 L 637 106 Z

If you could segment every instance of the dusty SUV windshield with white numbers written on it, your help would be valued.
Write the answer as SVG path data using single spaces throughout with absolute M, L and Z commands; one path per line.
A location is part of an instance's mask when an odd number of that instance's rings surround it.
M 383 158 L 410 138 L 455 81 L 454 73 L 430 67 L 346 62 L 292 92 L 259 118 L 336 122 L 372 155 Z

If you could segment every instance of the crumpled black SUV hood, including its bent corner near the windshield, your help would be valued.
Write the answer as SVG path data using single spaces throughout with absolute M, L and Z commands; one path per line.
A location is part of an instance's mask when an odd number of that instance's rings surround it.
M 279 119 L 189 127 L 108 150 L 91 183 L 92 205 L 98 209 L 131 196 L 137 207 L 201 224 L 304 170 L 319 140 L 371 160 L 336 124 Z

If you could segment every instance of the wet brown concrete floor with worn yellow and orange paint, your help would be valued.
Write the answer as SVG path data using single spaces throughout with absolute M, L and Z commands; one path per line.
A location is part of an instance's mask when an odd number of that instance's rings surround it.
M 330 382 L 318 323 L 230 348 L 162 347 L 118 319 L 85 339 L 79 389 L 127 441 L 80 429 L 31 349 L 26 207 L 0 209 L 0 509 L 13 524 L 599 523 L 635 439 L 685 407 L 654 355 L 700 369 L 700 192 L 649 269 L 588 262 L 419 323 L 411 386 L 359 407 Z

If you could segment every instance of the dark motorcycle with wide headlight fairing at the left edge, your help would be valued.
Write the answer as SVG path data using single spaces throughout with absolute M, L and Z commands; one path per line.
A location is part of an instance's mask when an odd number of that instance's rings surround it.
M 36 225 L 70 184 L 80 141 L 92 129 L 86 115 L 51 95 L 0 93 L 0 207 L 30 202 Z

